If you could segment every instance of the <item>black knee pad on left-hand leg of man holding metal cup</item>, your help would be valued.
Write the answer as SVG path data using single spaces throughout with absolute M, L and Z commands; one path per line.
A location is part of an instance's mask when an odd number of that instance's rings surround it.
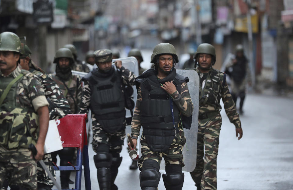
M 139 174 L 142 189 L 157 188 L 161 178 L 160 165 L 154 160 L 143 161 L 142 172 Z

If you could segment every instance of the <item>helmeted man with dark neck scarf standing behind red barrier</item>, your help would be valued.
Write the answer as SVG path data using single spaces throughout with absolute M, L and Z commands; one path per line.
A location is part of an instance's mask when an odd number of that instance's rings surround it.
M 71 113 L 78 113 L 79 102 L 81 100 L 82 88 L 81 79 L 78 75 L 73 75 L 71 68 L 74 65 L 74 59 L 68 48 L 60 48 L 54 57 L 53 63 L 56 63 L 56 74 L 49 76 L 58 84 L 63 95 L 70 105 Z M 52 160 L 56 163 L 57 153 L 60 157 L 60 166 L 68 166 L 68 161 L 72 162 L 75 148 L 63 148 L 60 151 L 52 152 Z M 68 189 L 70 171 L 60 171 L 61 188 Z

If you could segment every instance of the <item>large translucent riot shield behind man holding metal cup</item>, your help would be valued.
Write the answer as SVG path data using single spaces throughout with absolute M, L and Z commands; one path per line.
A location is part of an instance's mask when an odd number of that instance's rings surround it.
M 183 128 L 184 135 L 186 138 L 186 143 L 183 148 L 183 159 L 185 166 L 182 168 L 183 171 L 191 172 L 195 169 L 196 165 L 196 152 L 197 152 L 197 127 L 198 127 L 198 104 L 199 104 L 199 77 L 195 70 L 176 70 L 178 74 L 189 78 L 187 83 L 191 100 L 193 103 L 193 113 L 192 113 L 192 124 L 190 130 Z M 142 128 L 140 129 L 140 134 L 142 133 Z M 141 135 L 140 135 L 141 137 Z M 140 147 L 139 141 L 139 147 Z M 139 157 L 141 152 L 139 152 Z M 165 161 L 162 159 L 161 170 L 165 170 Z

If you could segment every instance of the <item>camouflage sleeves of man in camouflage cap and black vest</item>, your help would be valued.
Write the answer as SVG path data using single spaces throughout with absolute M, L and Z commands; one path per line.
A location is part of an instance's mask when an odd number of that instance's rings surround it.
M 123 83 L 125 85 L 133 86 L 134 85 L 134 79 L 136 78 L 135 74 L 132 73 L 130 70 L 125 69 L 123 66 L 121 67 L 121 77 L 123 80 Z M 91 95 L 92 90 L 90 88 L 89 81 L 84 81 L 83 86 L 83 94 L 81 99 L 81 106 L 79 113 L 88 113 L 90 109 L 90 103 L 91 103 Z M 94 117 L 94 113 L 92 113 Z

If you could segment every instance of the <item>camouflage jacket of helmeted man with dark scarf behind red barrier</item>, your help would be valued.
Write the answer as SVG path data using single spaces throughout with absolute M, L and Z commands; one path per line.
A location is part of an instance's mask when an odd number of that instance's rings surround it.
M 78 113 L 78 106 L 82 95 L 80 77 L 78 75 L 72 75 L 66 81 L 64 81 L 69 90 L 66 88 L 62 80 L 56 74 L 49 74 L 49 77 L 51 77 L 53 81 L 57 83 L 63 95 L 69 102 L 71 113 Z

